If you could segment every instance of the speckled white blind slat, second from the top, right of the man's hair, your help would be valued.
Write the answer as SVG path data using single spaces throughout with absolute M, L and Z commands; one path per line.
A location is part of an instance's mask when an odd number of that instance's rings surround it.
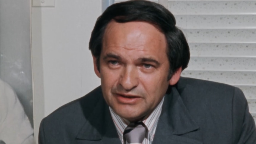
M 255 15 L 175 15 L 176 25 L 186 29 L 256 28 Z

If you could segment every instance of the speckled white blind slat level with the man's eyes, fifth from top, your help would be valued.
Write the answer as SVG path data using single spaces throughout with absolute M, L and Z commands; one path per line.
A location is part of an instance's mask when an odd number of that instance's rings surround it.
M 191 57 L 187 70 L 255 71 L 255 58 Z M 256 73 L 255 73 L 256 74 Z

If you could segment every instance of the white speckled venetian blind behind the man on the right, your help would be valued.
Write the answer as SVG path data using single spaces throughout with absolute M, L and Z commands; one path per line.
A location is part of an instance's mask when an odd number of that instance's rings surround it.
M 159 2 L 189 42 L 191 58 L 182 76 L 240 88 L 256 120 L 256 0 Z

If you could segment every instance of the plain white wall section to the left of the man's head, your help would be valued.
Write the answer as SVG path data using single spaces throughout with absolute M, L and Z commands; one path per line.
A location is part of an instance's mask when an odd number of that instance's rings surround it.
M 45 115 L 99 86 L 88 43 L 101 1 L 56 3 L 41 13 Z

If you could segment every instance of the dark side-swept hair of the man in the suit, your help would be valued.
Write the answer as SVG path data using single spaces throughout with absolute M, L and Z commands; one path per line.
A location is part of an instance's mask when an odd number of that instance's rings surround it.
M 111 20 L 118 23 L 148 22 L 165 34 L 167 57 L 170 63 L 168 79 L 179 67 L 182 67 L 182 70 L 187 67 L 190 58 L 189 45 L 183 32 L 175 26 L 176 21 L 173 14 L 160 4 L 145 0 L 131 0 L 109 6 L 95 23 L 89 49 L 92 55 L 96 57 L 98 70 L 104 32 Z

